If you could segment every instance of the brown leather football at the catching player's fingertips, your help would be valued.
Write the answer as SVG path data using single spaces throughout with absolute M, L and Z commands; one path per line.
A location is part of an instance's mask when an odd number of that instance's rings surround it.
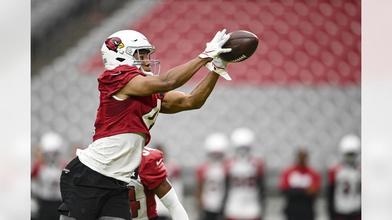
M 229 33 L 229 40 L 222 48 L 231 48 L 230 52 L 221 53 L 219 57 L 230 63 L 237 63 L 248 59 L 259 44 L 257 36 L 249 31 L 233 31 Z

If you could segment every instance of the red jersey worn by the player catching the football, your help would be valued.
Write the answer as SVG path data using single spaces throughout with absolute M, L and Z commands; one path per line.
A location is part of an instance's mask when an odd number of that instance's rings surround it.
M 165 94 L 130 96 L 125 100 L 112 97 L 137 75 L 146 76 L 135 66 L 120 65 L 103 71 L 98 77 L 100 105 L 93 141 L 120 133 L 143 132 L 147 134 L 145 145 L 148 144 L 151 137 L 149 130 L 155 123 Z

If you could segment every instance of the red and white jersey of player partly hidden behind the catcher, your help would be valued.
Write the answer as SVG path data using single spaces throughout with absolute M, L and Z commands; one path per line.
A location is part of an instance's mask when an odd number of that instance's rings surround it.
M 132 219 L 146 220 L 158 216 L 156 211 L 156 188 L 167 178 L 167 169 L 163 165 L 163 153 L 159 150 L 145 147 L 142 162 L 131 177 L 129 202 L 131 204 Z

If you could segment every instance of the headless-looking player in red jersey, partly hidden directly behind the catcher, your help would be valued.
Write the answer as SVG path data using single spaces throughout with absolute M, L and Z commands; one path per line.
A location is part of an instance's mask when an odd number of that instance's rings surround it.
M 167 176 L 167 170 L 163 164 L 163 153 L 145 147 L 142 153 L 142 162 L 131 176 L 129 202 L 133 220 L 158 219 L 155 195 L 160 198 L 174 220 L 188 219 L 188 215 L 178 200 L 174 188 L 167 180 Z

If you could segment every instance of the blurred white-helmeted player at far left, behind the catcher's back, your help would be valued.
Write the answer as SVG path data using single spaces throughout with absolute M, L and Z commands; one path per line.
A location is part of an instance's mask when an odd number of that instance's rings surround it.
M 47 132 L 41 136 L 39 148 L 35 150 L 34 164 L 31 171 L 31 193 L 33 204 L 38 204 L 40 220 L 58 219 L 56 211 L 61 205 L 60 175 L 66 163 L 60 157 L 63 145 L 62 137 L 56 132 Z M 35 208 L 37 206 L 34 206 Z

